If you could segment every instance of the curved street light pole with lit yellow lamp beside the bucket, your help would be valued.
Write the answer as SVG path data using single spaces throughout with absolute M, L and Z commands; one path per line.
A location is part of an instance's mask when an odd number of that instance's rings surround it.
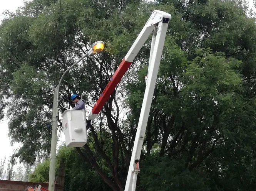
M 61 76 L 58 87 L 54 89 L 54 102 L 52 107 L 52 141 L 51 141 L 51 151 L 50 151 L 50 168 L 49 168 L 49 191 L 54 191 L 55 189 L 55 165 L 56 165 L 56 149 L 57 149 L 57 136 L 58 136 L 58 117 L 59 117 L 59 89 L 65 74 L 70 71 L 76 64 L 78 64 L 86 56 L 95 55 L 97 52 L 102 51 L 104 48 L 103 41 L 97 41 L 92 45 L 92 48 L 86 53 L 82 58 L 76 61 L 72 66 L 70 66 Z

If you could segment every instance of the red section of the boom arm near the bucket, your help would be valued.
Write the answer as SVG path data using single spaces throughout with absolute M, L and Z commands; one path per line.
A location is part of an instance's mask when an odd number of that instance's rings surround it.
M 125 58 L 123 58 L 114 75 L 111 77 L 109 83 L 107 83 L 107 86 L 105 87 L 96 104 L 92 108 L 92 114 L 99 114 L 100 110 L 109 99 L 109 96 L 112 94 L 117 84 L 121 81 L 122 77 L 124 76 L 127 69 L 131 66 L 131 64 L 132 62 L 125 61 Z

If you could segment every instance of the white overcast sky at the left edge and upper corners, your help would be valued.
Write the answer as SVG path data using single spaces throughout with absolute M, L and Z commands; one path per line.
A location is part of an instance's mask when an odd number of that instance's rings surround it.
M 14 12 L 18 7 L 22 6 L 24 3 L 24 0 L 0 0 L 0 21 L 3 20 L 2 13 L 5 10 L 9 10 L 10 12 Z M 249 6 L 253 8 L 253 0 L 249 0 Z M 4 84 L 2 84 L 4 85 Z M 62 134 L 62 140 L 63 139 Z M 19 144 L 13 145 L 13 147 L 10 146 L 10 140 L 8 138 L 8 120 L 4 119 L 0 121 L 0 159 L 4 158 L 4 156 L 8 157 L 12 155 L 13 150 L 18 148 Z M 6 161 L 6 165 L 7 165 Z

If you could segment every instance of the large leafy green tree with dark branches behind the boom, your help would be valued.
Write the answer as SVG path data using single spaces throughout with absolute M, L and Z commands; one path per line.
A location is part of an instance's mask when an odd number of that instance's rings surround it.
M 243 2 L 230 0 L 32 0 L 8 13 L 0 26 L 0 110 L 8 108 L 12 116 L 12 142 L 22 143 L 13 156 L 27 163 L 49 156 L 53 89 L 62 73 L 94 41 L 105 41 L 105 51 L 85 58 L 60 88 L 60 113 L 74 107 L 72 93 L 93 106 L 154 9 L 172 19 L 138 188 L 253 189 L 256 25 Z M 112 190 L 124 190 L 149 47 L 147 42 L 99 117 L 88 123 L 88 144 L 76 149 Z

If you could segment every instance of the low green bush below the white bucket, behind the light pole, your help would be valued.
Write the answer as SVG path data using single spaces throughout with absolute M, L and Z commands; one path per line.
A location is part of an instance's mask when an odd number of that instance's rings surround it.
M 65 161 L 65 189 L 66 190 L 109 190 L 99 175 L 89 163 L 82 160 L 74 148 L 60 147 L 57 153 L 56 176 L 61 160 Z M 48 182 L 50 161 L 38 163 L 35 171 L 30 173 L 28 181 Z

